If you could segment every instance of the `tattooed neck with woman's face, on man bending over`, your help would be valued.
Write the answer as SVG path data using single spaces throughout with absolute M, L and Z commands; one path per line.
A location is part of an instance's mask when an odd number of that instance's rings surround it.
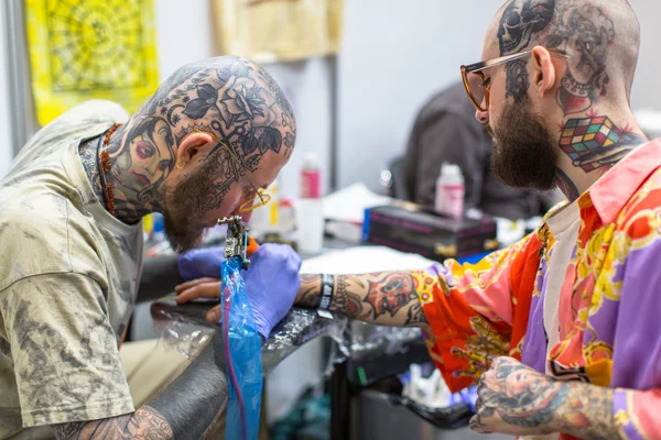
M 99 145 L 99 142 L 102 142 L 100 138 L 94 138 L 83 142 L 78 148 L 85 174 L 101 205 L 104 193 L 99 178 L 98 155 L 104 151 L 109 153 L 110 170 L 105 174 L 105 180 L 112 185 L 115 217 L 128 224 L 134 224 L 148 213 L 161 210 L 162 179 L 154 182 L 154 175 L 161 168 L 172 167 L 170 162 L 163 164 L 158 161 L 158 157 L 162 156 L 159 150 L 169 150 L 169 145 L 160 145 L 153 135 L 150 138 L 149 131 L 154 130 L 153 127 L 145 129 L 142 125 L 145 123 L 130 121 L 129 129 L 120 127 L 107 145 Z M 142 129 L 144 131 L 140 132 Z M 156 158 L 150 161 L 153 156 Z M 108 209 L 106 206 L 104 208 Z

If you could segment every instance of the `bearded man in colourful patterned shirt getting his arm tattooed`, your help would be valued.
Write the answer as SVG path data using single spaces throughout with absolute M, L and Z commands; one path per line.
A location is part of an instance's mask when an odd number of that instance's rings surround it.
M 423 328 L 449 388 L 479 385 L 475 431 L 661 439 L 661 140 L 629 106 L 639 41 L 626 0 L 508 1 L 468 98 L 496 176 L 567 201 L 478 264 L 304 275 L 296 305 Z

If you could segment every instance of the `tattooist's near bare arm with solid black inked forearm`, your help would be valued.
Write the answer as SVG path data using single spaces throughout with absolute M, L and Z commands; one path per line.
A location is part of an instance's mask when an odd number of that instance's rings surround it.
M 214 342 L 218 338 L 217 333 Z M 217 344 L 209 344 L 172 384 L 136 413 L 54 426 L 57 439 L 204 438 L 227 405 L 227 382 L 225 372 L 216 365 L 217 353 Z

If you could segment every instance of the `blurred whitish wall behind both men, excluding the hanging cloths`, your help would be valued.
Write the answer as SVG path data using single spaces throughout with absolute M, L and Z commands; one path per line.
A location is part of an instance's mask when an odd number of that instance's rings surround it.
M 18 0 L 0 4 L 2 176 L 39 124 L 25 8 Z M 296 150 L 281 175 L 282 194 L 297 197 L 305 152 L 318 155 L 325 194 L 356 182 L 378 189 L 380 172 L 405 151 L 418 109 L 434 91 L 459 80 L 459 65 L 480 59 L 485 29 L 500 4 L 500 0 L 345 0 L 337 55 L 266 63 L 293 102 L 299 122 Z M 631 103 L 636 110 L 661 111 L 657 23 L 661 3 L 631 0 L 631 4 L 642 29 Z M 153 12 L 161 80 L 183 64 L 221 54 L 213 1 L 153 0 Z

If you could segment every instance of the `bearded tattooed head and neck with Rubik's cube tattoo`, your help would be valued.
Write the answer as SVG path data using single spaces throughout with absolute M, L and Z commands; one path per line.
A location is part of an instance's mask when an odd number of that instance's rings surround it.
M 487 31 L 476 118 L 506 184 L 576 199 L 646 138 L 629 106 L 639 24 L 625 0 L 512 0 Z M 470 75 L 469 75 L 470 76 Z M 481 80 L 473 76 L 474 89 Z M 488 108 L 485 108 L 488 107 Z

